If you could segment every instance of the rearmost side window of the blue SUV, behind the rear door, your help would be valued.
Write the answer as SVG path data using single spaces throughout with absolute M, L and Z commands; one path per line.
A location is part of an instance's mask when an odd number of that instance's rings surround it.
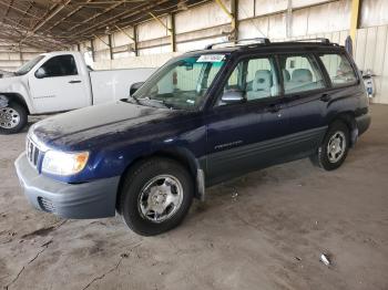
M 357 81 L 349 60 L 344 54 L 323 54 L 319 56 L 324 63 L 333 86 L 354 84 Z

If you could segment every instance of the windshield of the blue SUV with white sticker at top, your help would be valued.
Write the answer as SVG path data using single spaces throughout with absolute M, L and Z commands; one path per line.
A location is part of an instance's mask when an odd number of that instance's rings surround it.
M 224 54 L 203 54 L 171 61 L 133 99 L 144 105 L 196 110 L 225 63 Z

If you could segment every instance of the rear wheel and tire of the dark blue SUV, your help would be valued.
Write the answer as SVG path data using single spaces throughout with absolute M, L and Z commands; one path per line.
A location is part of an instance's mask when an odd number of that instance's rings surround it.
M 350 134 L 348 126 L 341 122 L 334 122 L 319 146 L 317 154 L 310 157 L 314 165 L 317 165 L 325 170 L 337 169 L 346 159 L 349 151 Z M 329 144 L 333 144 L 333 151 L 329 152 Z

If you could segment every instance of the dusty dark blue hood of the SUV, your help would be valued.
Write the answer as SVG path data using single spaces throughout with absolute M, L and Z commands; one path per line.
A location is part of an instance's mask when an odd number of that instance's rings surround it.
M 135 105 L 122 101 L 89 106 L 38 122 L 31 127 L 33 134 L 47 146 L 63 149 L 92 147 L 105 142 L 108 136 L 165 120 L 174 114 L 169 108 Z

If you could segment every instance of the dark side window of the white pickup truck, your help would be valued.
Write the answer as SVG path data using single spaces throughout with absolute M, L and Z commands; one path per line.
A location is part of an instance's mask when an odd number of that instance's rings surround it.
M 58 55 L 48 60 L 39 70 L 45 77 L 76 75 L 76 65 L 73 55 Z

